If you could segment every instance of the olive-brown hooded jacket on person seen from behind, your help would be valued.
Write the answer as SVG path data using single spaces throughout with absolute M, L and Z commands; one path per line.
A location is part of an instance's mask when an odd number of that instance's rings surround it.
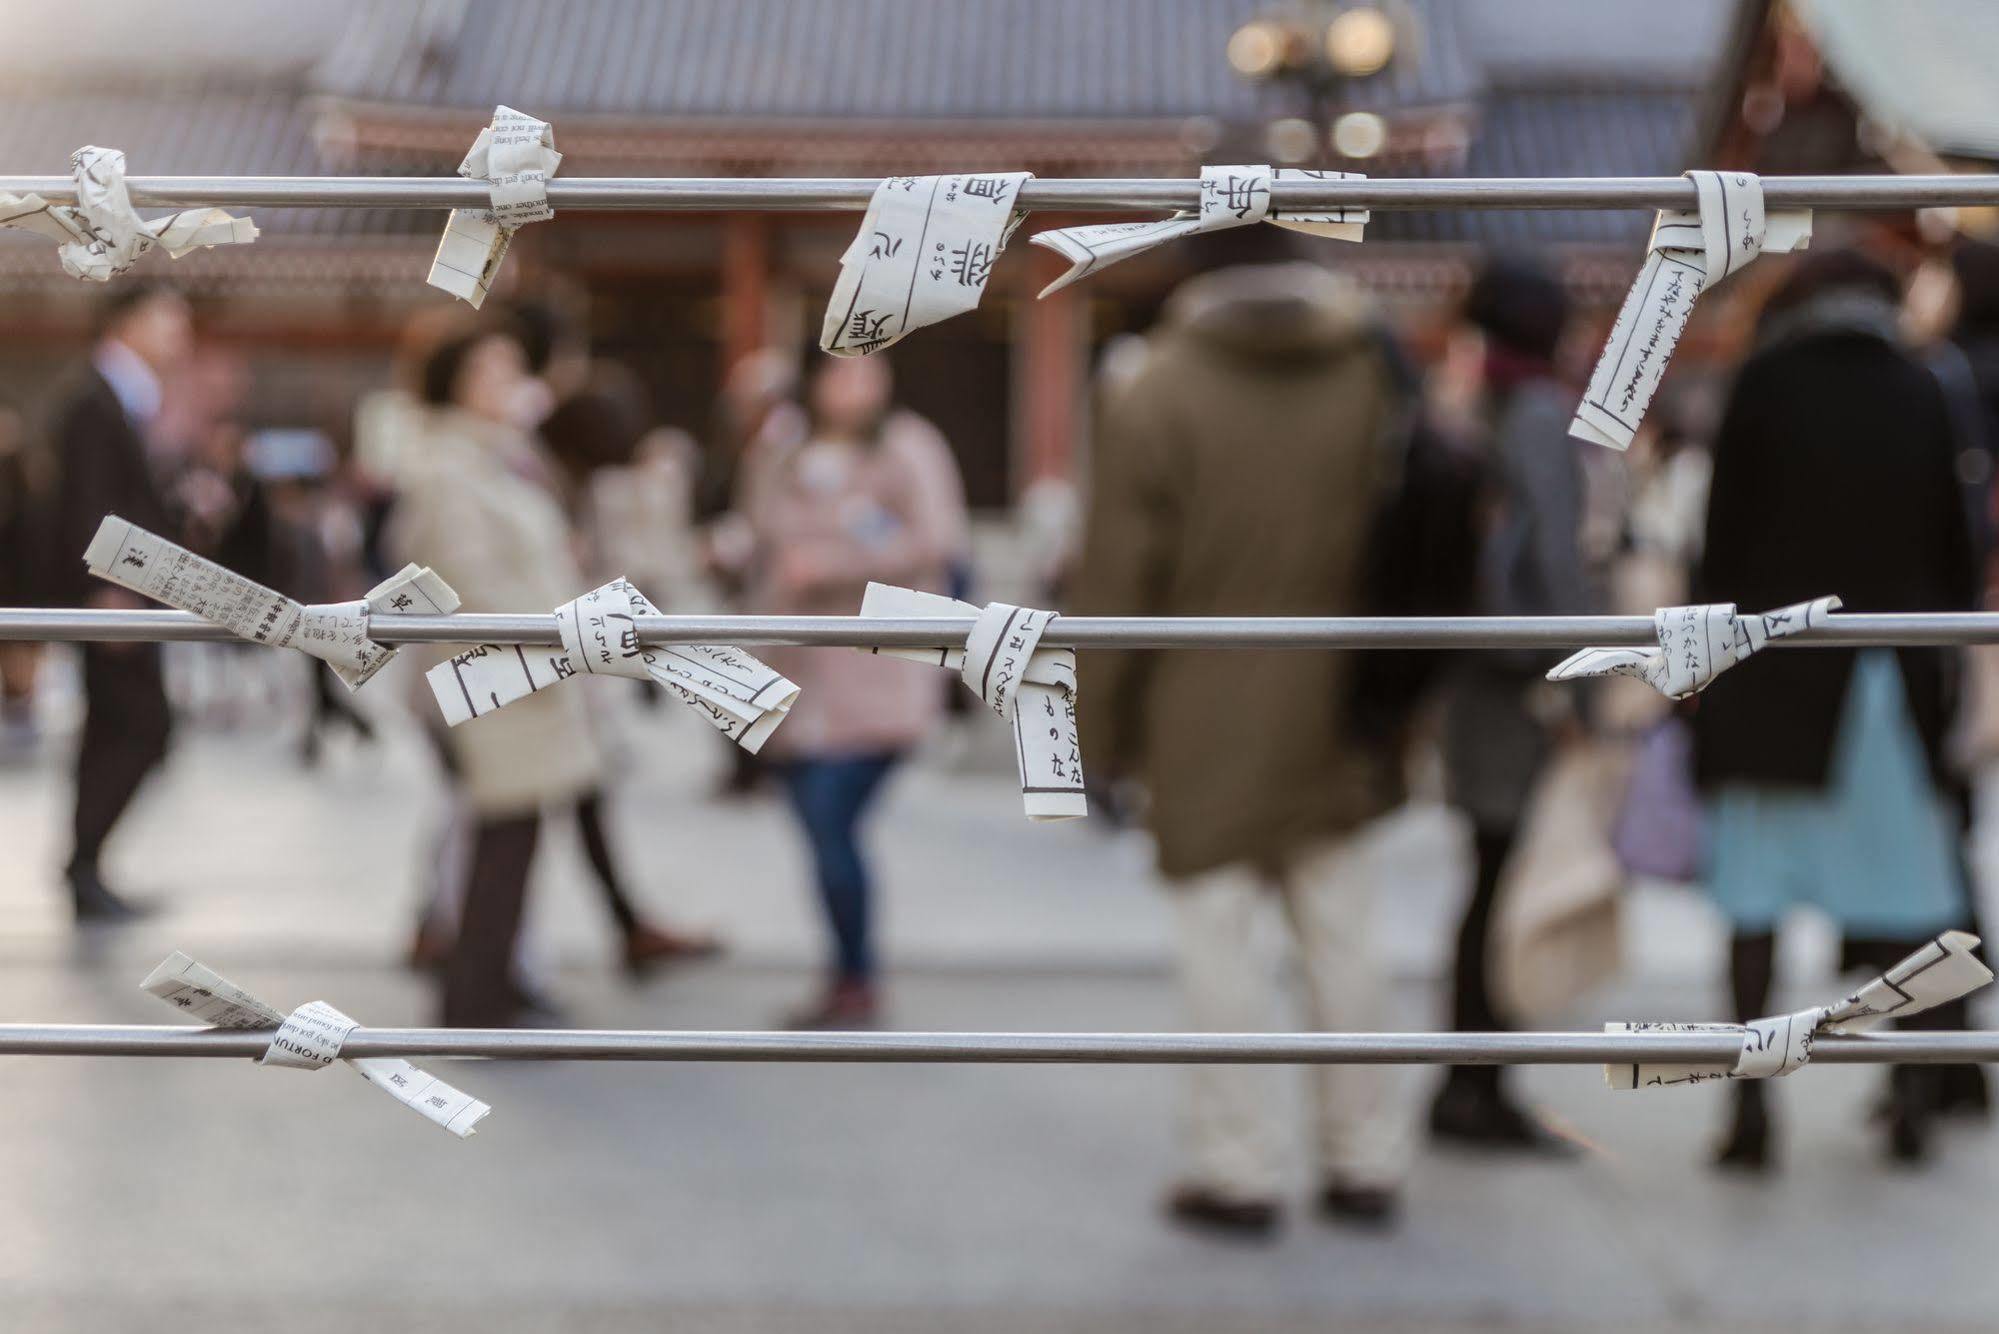
M 1187 282 L 1101 406 L 1083 616 L 1347 616 L 1401 404 L 1365 296 L 1311 264 Z M 1159 870 L 1275 864 L 1399 796 L 1349 654 L 1085 652 L 1093 776 L 1139 778 Z

